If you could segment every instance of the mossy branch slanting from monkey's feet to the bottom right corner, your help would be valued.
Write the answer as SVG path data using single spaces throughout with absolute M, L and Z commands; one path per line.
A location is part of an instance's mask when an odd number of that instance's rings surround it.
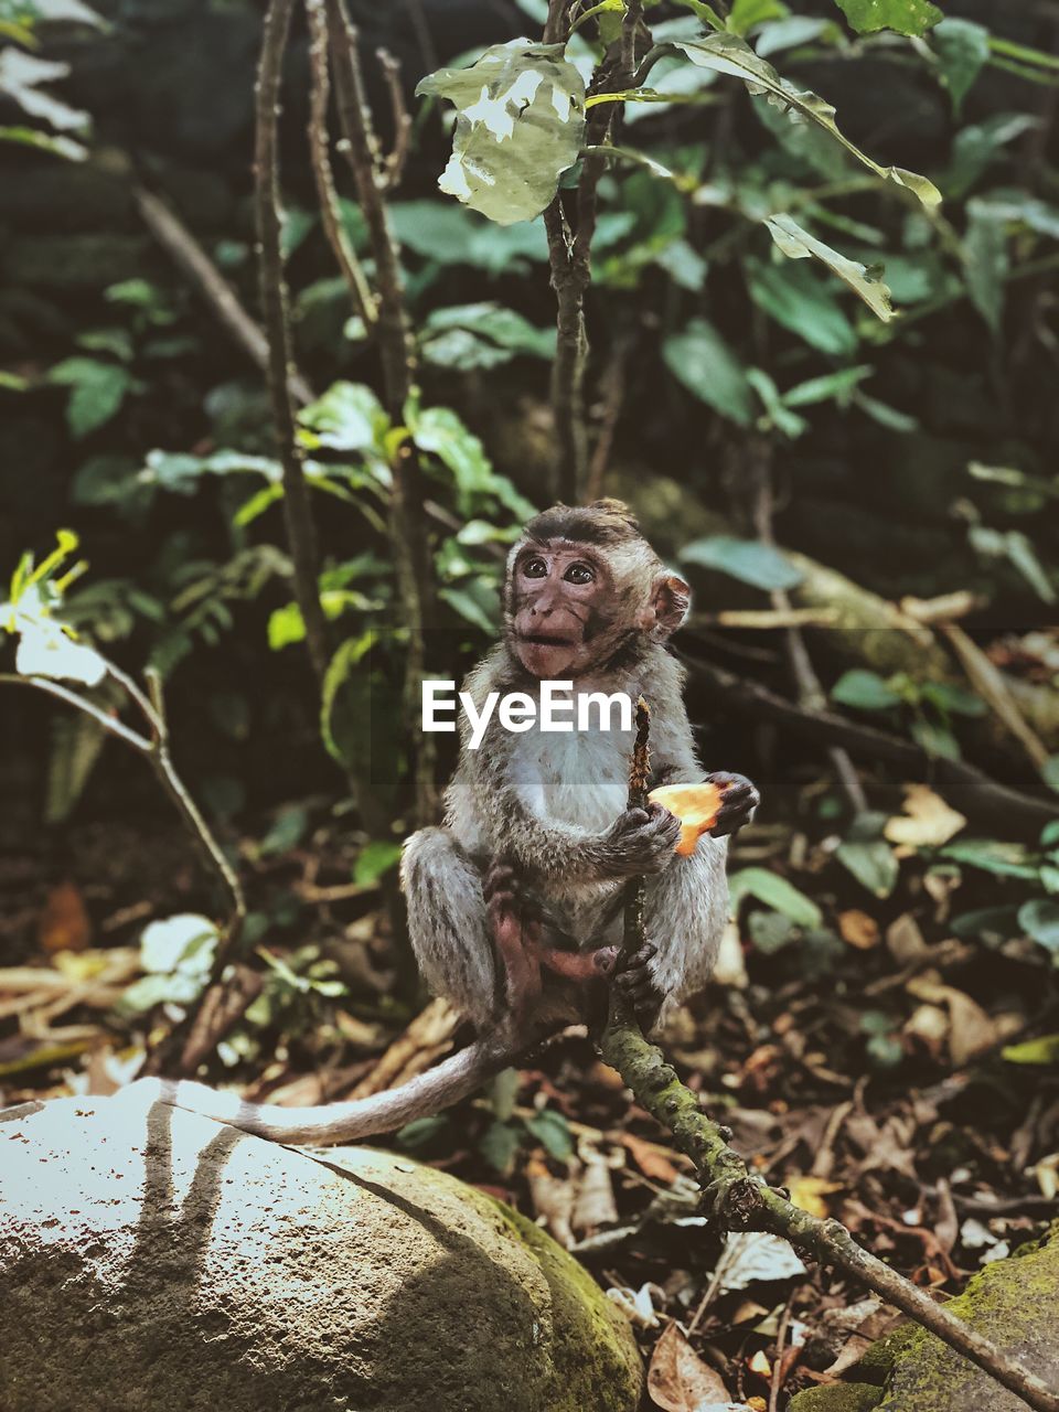
M 1024 1398 L 1035 1412 L 1059 1412 L 1059 1395 L 1049 1391 L 1036 1374 L 857 1245 L 839 1221 L 820 1220 L 799 1210 L 751 1173 L 727 1145 L 730 1131 L 702 1111 L 699 1096 L 681 1083 L 661 1051 L 634 1027 L 610 1024 L 602 1049 L 606 1062 L 617 1069 L 641 1107 L 668 1128 L 678 1147 L 692 1158 L 703 1185 L 703 1203 L 724 1230 L 782 1236 L 822 1264 L 867 1285 Z

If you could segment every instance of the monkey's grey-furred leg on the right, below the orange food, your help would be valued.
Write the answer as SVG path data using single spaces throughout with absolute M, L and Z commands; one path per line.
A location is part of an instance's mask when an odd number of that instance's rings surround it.
M 645 1029 L 710 977 L 729 916 L 726 858 L 727 840 L 703 837 L 690 857 L 647 881 L 648 945 L 616 979 Z

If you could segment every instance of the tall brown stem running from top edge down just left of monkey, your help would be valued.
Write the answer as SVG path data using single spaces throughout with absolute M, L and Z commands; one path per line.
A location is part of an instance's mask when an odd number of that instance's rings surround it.
M 412 352 L 408 313 L 404 304 L 400 249 L 390 226 L 371 113 L 360 72 L 357 32 L 349 23 L 343 0 L 306 0 L 309 10 L 326 11 L 328 41 L 335 75 L 335 95 L 357 199 L 364 215 L 378 285 L 378 349 L 383 361 L 384 402 L 395 425 L 405 417 L 412 390 Z M 433 573 L 429 538 L 422 510 L 425 498 L 415 442 L 405 438 L 394 453 L 390 493 L 390 542 L 404 626 L 408 631 L 405 661 L 405 714 L 419 709 L 421 682 L 426 674 L 426 642 L 435 623 Z M 433 822 L 438 812 L 435 741 L 417 734 L 414 751 L 415 820 Z

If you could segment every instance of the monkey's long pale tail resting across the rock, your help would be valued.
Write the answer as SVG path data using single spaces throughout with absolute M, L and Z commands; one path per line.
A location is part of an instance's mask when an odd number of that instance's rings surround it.
M 353 1103 L 328 1103 L 316 1108 L 281 1108 L 247 1103 L 234 1093 L 220 1093 L 192 1079 L 138 1079 L 126 1093 L 147 1103 L 167 1103 L 205 1118 L 227 1123 L 271 1142 L 353 1142 L 377 1132 L 393 1132 L 412 1118 L 431 1117 L 474 1093 L 486 1079 L 505 1069 L 521 1052 L 504 1034 L 483 1035 L 433 1069 L 400 1089 L 373 1093 Z

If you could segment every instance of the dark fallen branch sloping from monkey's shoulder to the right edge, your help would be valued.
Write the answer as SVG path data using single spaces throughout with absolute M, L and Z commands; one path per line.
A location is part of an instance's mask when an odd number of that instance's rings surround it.
M 719 702 L 734 705 L 762 720 L 774 720 L 798 731 L 808 740 L 842 744 L 875 764 L 888 762 L 907 779 L 931 779 L 945 798 L 969 816 L 979 815 L 995 829 L 1010 829 L 1036 842 L 1041 829 L 1055 819 L 1055 806 L 1045 799 L 1011 789 L 964 760 L 928 755 L 911 740 L 891 736 L 875 726 L 836 716 L 827 710 L 806 710 L 796 702 L 778 696 L 767 686 L 737 676 L 713 662 L 689 655 L 696 682 Z

